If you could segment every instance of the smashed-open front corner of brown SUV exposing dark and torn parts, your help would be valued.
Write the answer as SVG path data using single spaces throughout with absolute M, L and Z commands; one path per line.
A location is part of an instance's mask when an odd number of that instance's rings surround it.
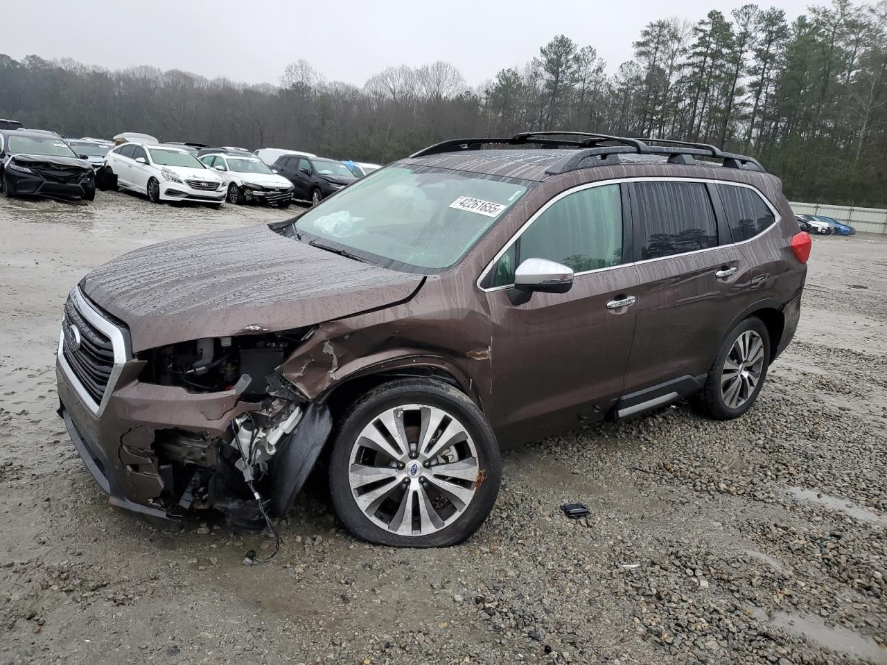
M 287 512 L 307 476 L 302 466 L 310 470 L 331 429 L 326 407 L 308 403 L 276 372 L 312 332 L 205 338 L 137 355 L 145 363 L 140 382 L 199 394 L 231 391 L 239 405 L 233 410 L 238 415 L 221 434 L 178 428 L 154 431 L 152 448 L 162 481 L 154 505 L 169 516 L 215 508 L 232 528 L 255 531 L 267 525 L 275 532 L 269 512 Z M 293 442 L 309 411 L 304 441 Z M 317 443 L 311 447 L 311 442 Z M 278 462 L 279 453 L 287 448 L 300 450 Z

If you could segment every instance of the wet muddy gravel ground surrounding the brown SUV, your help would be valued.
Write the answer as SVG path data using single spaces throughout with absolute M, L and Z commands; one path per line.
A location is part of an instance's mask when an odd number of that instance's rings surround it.
M 447 550 L 356 541 L 314 478 L 279 556 L 244 567 L 267 537 L 107 504 L 53 356 L 90 266 L 283 216 L 0 200 L 0 662 L 887 663 L 887 239 L 814 239 L 746 417 L 681 403 L 507 453 L 491 520 Z

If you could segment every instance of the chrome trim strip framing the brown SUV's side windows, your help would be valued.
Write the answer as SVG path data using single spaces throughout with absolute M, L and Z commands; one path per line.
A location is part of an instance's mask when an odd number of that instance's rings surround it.
M 502 258 L 502 254 L 505 254 L 508 251 L 508 249 L 512 245 L 514 245 L 514 242 L 518 238 L 520 238 L 521 235 L 523 234 L 523 232 L 526 231 L 530 227 L 531 223 L 534 223 L 538 219 L 539 215 L 542 215 L 542 213 L 544 213 L 549 207 L 553 206 L 554 203 L 563 199 L 566 196 L 569 196 L 569 194 L 572 194 L 575 192 L 582 192 L 583 190 L 591 189 L 592 187 L 602 187 L 607 184 L 622 184 L 622 183 L 710 183 L 710 184 L 729 184 L 729 185 L 733 185 L 734 187 L 747 187 L 752 192 L 755 192 L 761 198 L 761 200 L 764 201 L 766 207 L 770 208 L 770 211 L 773 213 L 774 222 L 772 224 L 770 224 L 770 226 L 768 226 L 764 231 L 761 231 L 760 233 L 758 233 L 756 236 L 752 236 L 749 239 L 740 240 L 739 242 L 735 242 L 735 243 L 730 242 L 730 243 L 725 243 L 724 245 L 705 247 L 704 249 L 695 249 L 692 252 L 681 252 L 680 254 L 669 254 L 668 256 L 656 256 L 653 259 L 643 259 L 641 261 L 620 263 L 619 265 L 608 266 L 606 268 L 596 268 L 594 270 L 584 270 L 582 272 L 574 273 L 574 277 L 581 277 L 583 275 L 588 275 L 589 273 L 592 273 L 592 272 L 600 272 L 602 270 L 614 270 L 616 268 L 624 268 L 626 266 L 640 265 L 641 263 L 662 261 L 663 259 L 671 259 L 674 256 L 686 256 L 687 254 L 700 254 L 702 252 L 710 252 L 713 249 L 720 249 L 721 247 L 726 247 L 726 246 L 744 245 L 747 242 L 751 242 L 752 240 L 758 239 L 760 236 L 764 235 L 766 232 L 771 231 L 773 229 L 773 227 L 777 226 L 782 220 L 781 215 L 779 214 L 779 211 L 775 207 L 773 207 L 773 204 L 769 200 L 767 200 L 764 193 L 761 192 L 759 189 L 757 189 L 757 187 L 755 185 L 748 184 L 748 183 L 734 183 L 729 180 L 718 180 L 717 178 L 699 178 L 699 177 L 686 177 L 685 178 L 685 177 L 678 177 L 678 176 L 662 176 L 662 177 L 637 176 L 637 177 L 613 178 L 611 180 L 600 180 L 600 181 L 597 181 L 594 183 L 579 184 L 576 187 L 573 187 L 569 190 L 564 190 L 563 192 L 561 192 L 557 196 L 553 197 L 551 200 L 546 201 L 546 204 L 543 207 L 540 207 L 535 213 L 533 213 L 533 215 L 530 215 L 530 219 L 528 219 L 525 223 L 523 223 L 520 229 L 518 229 L 517 231 L 514 232 L 514 235 L 512 235 L 512 237 L 510 239 L 508 239 L 506 244 L 504 246 L 502 246 L 501 249 L 499 249 L 498 253 L 495 256 L 493 256 L 492 261 L 487 263 L 486 267 L 483 270 L 481 270 L 480 276 L 475 280 L 475 286 L 477 286 L 477 288 L 480 291 L 482 291 L 483 293 L 491 293 L 494 291 L 502 291 L 504 289 L 512 288 L 514 286 L 514 284 L 506 284 L 506 285 L 502 285 L 502 286 L 488 286 L 488 287 L 484 288 L 483 286 L 481 286 L 481 282 L 483 282 L 483 278 L 485 278 L 487 276 L 487 273 L 490 272 L 490 270 L 492 270 L 492 267 L 494 265 L 496 265 L 496 262 L 498 262 L 498 260 L 500 258 Z M 515 266 L 515 268 L 516 268 L 516 266 Z

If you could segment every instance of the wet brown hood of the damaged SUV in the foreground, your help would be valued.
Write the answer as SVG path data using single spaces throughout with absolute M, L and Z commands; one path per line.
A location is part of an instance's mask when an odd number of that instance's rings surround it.
M 137 249 L 92 270 L 80 287 L 130 327 L 137 352 L 347 317 L 404 301 L 422 280 L 259 225 Z

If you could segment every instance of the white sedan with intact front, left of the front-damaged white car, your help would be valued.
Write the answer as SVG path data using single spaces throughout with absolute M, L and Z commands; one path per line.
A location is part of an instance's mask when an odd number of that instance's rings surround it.
M 106 166 L 118 187 L 145 194 L 152 203 L 224 202 L 222 178 L 180 148 L 128 142 L 107 153 Z

